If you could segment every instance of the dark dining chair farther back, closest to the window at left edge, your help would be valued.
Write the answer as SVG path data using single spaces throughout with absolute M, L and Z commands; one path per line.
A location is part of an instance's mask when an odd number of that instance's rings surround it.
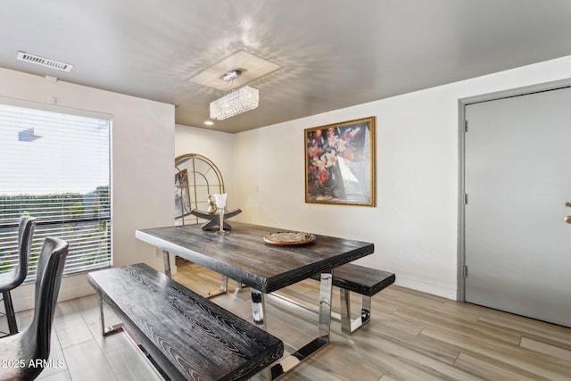
M 20 218 L 20 224 L 18 225 L 18 262 L 12 271 L 0 274 L 0 292 L 2 292 L 4 298 L 4 309 L 10 335 L 18 333 L 18 324 L 10 291 L 20 286 L 28 275 L 29 250 L 35 227 L 36 218 L 29 216 Z

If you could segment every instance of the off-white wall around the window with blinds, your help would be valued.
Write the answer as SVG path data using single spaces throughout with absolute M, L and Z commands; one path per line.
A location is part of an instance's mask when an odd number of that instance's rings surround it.
M 43 77 L 0 69 L 0 96 L 112 114 L 112 251 L 114 265 L 146 262 L 162 269 L 161 257 L 135 238 L 137 228 L 170 225 L 174 219 L 172 165 L 174 106 Z M 65 277 L 60 300 L 92 294 L 85 275 Z M 12 293 L 17 311 L 33 307 L 33 285 Z

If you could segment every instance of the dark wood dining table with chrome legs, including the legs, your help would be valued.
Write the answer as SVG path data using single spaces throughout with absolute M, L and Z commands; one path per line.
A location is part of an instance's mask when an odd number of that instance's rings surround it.
M 161 249 L 165 273 L 170 276 L 170 254 L 211 269 L 223 277 L 249 286 L 254 323 L 266 327 L 264 294 L 294 285 L 315 274 L 319 277 L 317 336 L 272 365 L 269 377 L 277 379 L 311 354 L 329 344 L 332 279 L 335 267 L 355 261 L 375 250 L 374 244 L 302 233 L 298 241 L 275 241 L 271 236 L 294 232 L 244 222 L 233 222 L 228 234 L 203 229 L 198 224 L 136 231 L 137 239 Z M 297 232 L 299 233 L 299 232 Z

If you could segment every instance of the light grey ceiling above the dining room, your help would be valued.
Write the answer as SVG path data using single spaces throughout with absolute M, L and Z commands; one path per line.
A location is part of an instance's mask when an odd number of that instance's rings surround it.
M 211 127 L 238 132 L 569 55 L 571 0 L 3 0 L 0 30 L 0 67 L 176 104 L 194 127 L 225 91 L 190 79 L 240 51 L 276 64 L 248 83 L 260 107 Z

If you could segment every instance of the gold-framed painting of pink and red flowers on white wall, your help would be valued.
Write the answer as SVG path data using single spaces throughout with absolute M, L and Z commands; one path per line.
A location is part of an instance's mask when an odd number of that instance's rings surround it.
M 375 206 L 375 117 L 304 130 L 305 202 Z

